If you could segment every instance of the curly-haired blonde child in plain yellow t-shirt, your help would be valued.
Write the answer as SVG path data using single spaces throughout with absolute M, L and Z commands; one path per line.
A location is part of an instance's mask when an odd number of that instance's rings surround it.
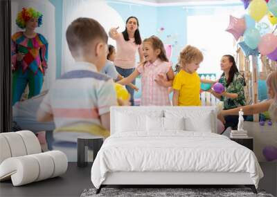
M 194 46 L 188 45 L 181 51 L 181 70 L 175 76 L 172 86 L 173 106 L 201 106 L 199 93 L 202 80 L 196 71 L 203 59 L 202 52 Z

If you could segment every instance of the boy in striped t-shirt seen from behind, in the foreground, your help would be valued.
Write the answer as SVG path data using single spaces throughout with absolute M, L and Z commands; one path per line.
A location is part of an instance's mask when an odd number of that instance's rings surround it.
M 37 120 L 54 120 L 56 131 L 109 136 L 109 107 L 116 106 L 113 80 L 99 73 L 107 57 L 107 34 L 94 19 L 75 19 L 66 40 L 75 64 L 42 101 Z

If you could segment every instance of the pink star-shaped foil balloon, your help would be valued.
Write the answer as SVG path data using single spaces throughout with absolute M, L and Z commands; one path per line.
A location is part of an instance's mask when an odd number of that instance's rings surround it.
M 245 29 L 246 29 L 246 25 L 245 25 L 244 18 L 238 19 L 230 15 L 230 23 L 228 28 L 226 29 L 227 32 L 231 32 L 231 34 L 238 41 L 240 36 L 243 35 L 243 32 Z

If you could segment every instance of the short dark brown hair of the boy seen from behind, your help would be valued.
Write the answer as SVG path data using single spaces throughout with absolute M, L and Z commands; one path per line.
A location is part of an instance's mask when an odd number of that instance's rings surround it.
M 66 30 L 66 41 L 71 52 L 78 48 L 84 48 L 95 39 L 102 39 L 107 43 L 108 36 L 105 29 L 94 19 L 75 19 Z

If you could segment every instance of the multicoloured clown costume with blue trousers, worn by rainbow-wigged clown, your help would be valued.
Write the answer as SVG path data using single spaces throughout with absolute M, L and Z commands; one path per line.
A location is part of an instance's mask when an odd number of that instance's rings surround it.
M 18 62 L 17 53 L 24 54 Z M 42 89 L 47 68 L 48 42 L 39 33 L 28 38 L 23 32 L 12 35 L 12 105 L 21 99 L 28 84 L 28 98 L 38 95 Z

